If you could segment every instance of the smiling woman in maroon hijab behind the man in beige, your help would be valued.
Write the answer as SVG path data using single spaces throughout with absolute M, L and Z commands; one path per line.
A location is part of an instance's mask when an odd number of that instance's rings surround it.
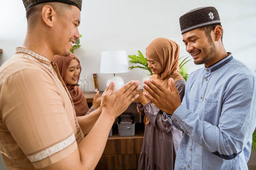
M 99 108 L 99 92 L 97 92 L 93 98 L 92 107 L 89 110 L 86 98 L 84 97 L 82 90 L 77 85 L 81 73 L 81 65 L 79 59 L 77 59 L 74 53 L 70 53 L 68 57 L 55 55 L 52 61 L 57 64 L 61 78 L 70 92 L 77 117 L 87 115 L 93 110 Z

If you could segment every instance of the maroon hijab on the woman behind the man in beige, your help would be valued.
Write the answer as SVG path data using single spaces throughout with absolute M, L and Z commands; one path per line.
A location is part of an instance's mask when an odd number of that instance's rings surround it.
M 76 55 L 74 53 L 70 53 L 68 57 L 60 56 L 60 55 L 54 55 L 52 61 L 57 64 L 58 69 L 61 74 L 62 80 L 65 82 L 67 89 L 70 92 L 70 95 L 72 97 L 75 109 L 76 109 L 76 115 L 77 117 L 85 115 L 85 113 L 89 110 L 88 104 L 86 101 L 86 98 L 83 95 L 82 90 L 76 85 L 68 85 L 66 81 L 66 72 L 67 68 L 71 62 L 72 59 L 76 59 L 80 66 L 80 73 L 81 73 L 81 65 L 79 59 L 77 59 Z M 77 82 L 80 78 L 80 73 L 77 77 Z

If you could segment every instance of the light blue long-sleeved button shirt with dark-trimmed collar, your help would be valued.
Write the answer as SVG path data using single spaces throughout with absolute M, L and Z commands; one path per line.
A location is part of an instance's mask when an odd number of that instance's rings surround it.
M 255 73 L 230 54 L 189 74 L 170 120 L 184 136 L 175 169 L 248 169 L 256 126 Z

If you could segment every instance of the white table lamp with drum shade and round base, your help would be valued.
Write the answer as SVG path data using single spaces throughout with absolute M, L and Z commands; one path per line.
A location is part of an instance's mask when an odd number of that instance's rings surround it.
M 107 87 L 110 81 L 115 83 L 115 90 L 120 89 L 124 85 L 124 80 L 116 73 L 127 73 L 128 69 L 128 56 L 125 51 L 104 51 L 101 53 L 100 60 L 100 73 L 114 74 L 108 78 Z

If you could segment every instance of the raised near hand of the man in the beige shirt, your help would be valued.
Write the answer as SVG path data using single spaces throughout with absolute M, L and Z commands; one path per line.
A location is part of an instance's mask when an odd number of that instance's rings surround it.
M 111 82 L 102 94 L 100 103 L 102 112 L 108 112 L 113 118 L 118 117 L 128 108 L 132 101 L 138 98 L 139 95 L 136 94 L 136 90 L 138 90 L 139 83 L 139 81 L 132 80 L 114 92 L 115 83 Z

